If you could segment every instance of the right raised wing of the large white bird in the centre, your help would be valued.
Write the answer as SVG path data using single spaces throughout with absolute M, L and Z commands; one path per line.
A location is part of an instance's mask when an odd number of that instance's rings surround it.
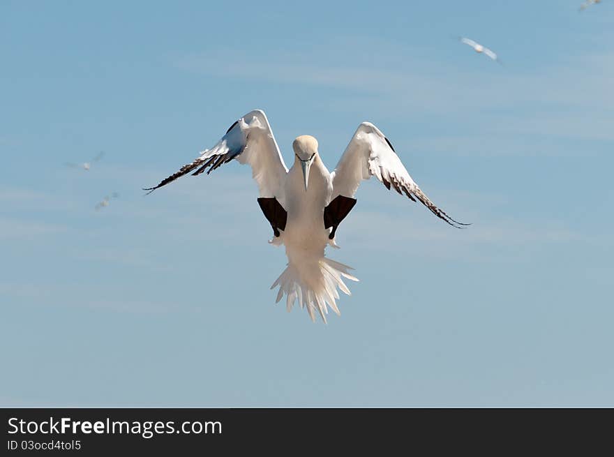
M 331 176 L 333 199 L 337 195 L 354 197 L 360 181 L 375 176 L 388 189 L 392 186 L 399 194 L 404 193 L 414 202 L 416 199 L 419 200 L 435 216 L 445 220 L 449 225 L 456 228 L 470 225 L 454 220 L 428 199 L 410 177 L 388 138 L 370 122 L 363 122 L 357 128 Z

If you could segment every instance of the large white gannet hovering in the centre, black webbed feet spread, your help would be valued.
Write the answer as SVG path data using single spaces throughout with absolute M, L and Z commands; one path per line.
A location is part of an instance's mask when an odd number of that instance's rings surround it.
M 343 278 L 358 280 L 350 274 L 351 267 L 325 257 L 324 249 L 338 247 L 337 228 L 354 207 L 362 180 L 375 176 L 387 188 L 419 200 L 449 225 L 469 225 L 458 223 L 428 200 L 387 137 L 372 123 L 360 124 L 332 173 L 322 163 L 314 137 L 301 135 L 292 148 L 294 164 L 288 170 L 266 115 L 251 111 L 234 122 L 213 148 L 202 151 L 158 186 L 144 190 L 151 193 L 190 172 L 209 174 L 232 159 L 250 165 L 260 188 L 257 201 L 273 228 L 269 243 L 285 245 L 288 259 L 287 268 L 271 286 L 279 286 L 276 302 L 285 294 L 290 311 L 298 300 L 314 321 L 320 313 L 326 322 L 327 306 L 339 314 L 337 288 L 349 295 Z

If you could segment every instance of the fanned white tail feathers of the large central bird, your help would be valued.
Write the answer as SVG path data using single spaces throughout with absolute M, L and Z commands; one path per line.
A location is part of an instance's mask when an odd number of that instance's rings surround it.
M 315 322 L 315 312 L 322 316 L 324 323 L 328 307 L 340 315 L 336 300 L 339 299 L 337 288 L 347 295 L 351 295 L 350 289 L 343 283 L 342 278 L 358 281 L 358 278 L 348 273 L 352 267 L 348 267 L 327 257 L 320 257 L 313 262 L 288 263 L 287 268 L 279 278 L 271 285 L 271 289 L 279 286 L 276 303 L 285 294 L 288 312 L 292 310 L 294 302 L 299 301 L 301 308 L 307 308 L 309 317 Z

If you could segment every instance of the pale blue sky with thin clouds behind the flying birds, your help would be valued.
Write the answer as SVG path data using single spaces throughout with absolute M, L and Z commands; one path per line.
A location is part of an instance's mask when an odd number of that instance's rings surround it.
M 1 405 L 614 406 L 614 2 L 207 3 L 1 3 Z M 254 108 L 474 225 L 367 181 L 286 313 L 247 167 L 140 190 Z

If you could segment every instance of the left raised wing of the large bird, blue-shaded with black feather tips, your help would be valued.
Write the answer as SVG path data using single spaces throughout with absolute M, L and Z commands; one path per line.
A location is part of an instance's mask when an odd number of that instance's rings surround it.
M 205 171 L 209 174 L 233 158 L 252 167 L 253 178 L 260 188 L 260 197 L 279 195 L 287 167 L 267 116 L 261 110 L 248 112 L 230 126 L 214 147 L 202 151 L 192 163 L 184 165 L 178 172 L 160 181 L 158 186 L 143 190 L 149 190 L 151 193 L 189 172 L 193 172 L 194 176 Z

